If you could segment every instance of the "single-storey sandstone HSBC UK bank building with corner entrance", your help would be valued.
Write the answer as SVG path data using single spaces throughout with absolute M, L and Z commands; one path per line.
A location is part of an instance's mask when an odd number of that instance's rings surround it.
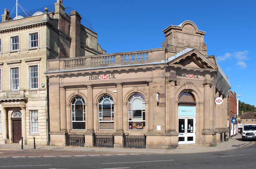
M 191 21 L 163 32 L 162 48 L 48 60 L 50 144 L 168 149 L 222 142 L 230 83 L 207 54 L 205 32 Z

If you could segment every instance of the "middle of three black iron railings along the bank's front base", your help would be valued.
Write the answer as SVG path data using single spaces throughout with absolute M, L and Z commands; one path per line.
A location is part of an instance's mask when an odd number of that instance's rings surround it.
M 114 147 L 114 135 L 93 135 L 94 147 Z

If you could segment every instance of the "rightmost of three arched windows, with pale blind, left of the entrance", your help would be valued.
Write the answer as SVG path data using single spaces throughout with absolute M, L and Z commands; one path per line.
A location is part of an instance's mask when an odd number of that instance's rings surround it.
M 128 102 L 129 130 L 145 129 L 145 98 L 134 94 Z

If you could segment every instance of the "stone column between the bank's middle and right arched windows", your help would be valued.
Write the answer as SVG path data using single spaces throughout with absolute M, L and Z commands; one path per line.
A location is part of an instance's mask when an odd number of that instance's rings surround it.
M 124 133 L 123 129 L 123 86 L 116 84 L 116 132 Z

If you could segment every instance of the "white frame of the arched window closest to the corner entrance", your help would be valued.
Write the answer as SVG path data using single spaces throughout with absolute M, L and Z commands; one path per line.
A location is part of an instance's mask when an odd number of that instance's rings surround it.
M 143 97 L 143 99 L 141 98 Z M 141 100 L 141 118 L 140 117 L 133 117 L 133 101 L 135 99 L 140 99 Z M 144 108 L 144 109 L 143 109 Z M 130 123 L 133 122 L 142 122 L 146 125 L 146 104 L 145 104 L 145 97 L 139 93 L 133 94 L 128 101 L 128 129 L 129 130 L 145 130 L 145 129 L 133 129 L 133 126 Z M 136 109 L 139 110 L 139 109 Z M 144 114 L 144 116 L 143 116 Z M 140 119 L 139 119 L 140 118 Z M 143 126 L 143 128 L 146 126 Z

